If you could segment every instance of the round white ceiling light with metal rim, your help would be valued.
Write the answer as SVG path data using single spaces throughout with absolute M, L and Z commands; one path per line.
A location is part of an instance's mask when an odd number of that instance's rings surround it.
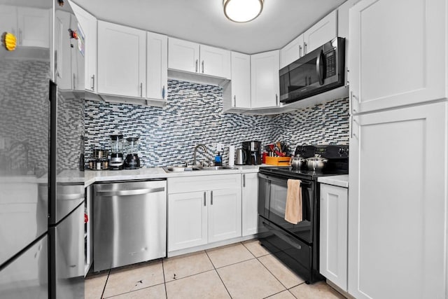
M 223 0 L 225 16 L 238 23 L 249 22 L 260 15 L 263 0 Z

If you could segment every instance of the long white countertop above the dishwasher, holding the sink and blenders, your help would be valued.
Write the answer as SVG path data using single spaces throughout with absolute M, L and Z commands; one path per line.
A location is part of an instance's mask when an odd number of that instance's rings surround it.
M 181 176 L 209 176 L 214 174 L 247 174 L 258 172 L 258 168 L 274 165 L 235 165 L 235 169 L 191 170 L 185 172 L 165 172 L 162 167 L 125 170 L 85 170 L 84 184 L 89 186 L 99 181 L 128 181 L 137 179 L 167 179 Z

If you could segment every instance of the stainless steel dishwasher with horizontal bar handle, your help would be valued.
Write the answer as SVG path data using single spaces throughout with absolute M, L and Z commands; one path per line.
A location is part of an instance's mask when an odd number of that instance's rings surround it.
M 93 270 L 165 257 L 167 181 L 94 185 Z

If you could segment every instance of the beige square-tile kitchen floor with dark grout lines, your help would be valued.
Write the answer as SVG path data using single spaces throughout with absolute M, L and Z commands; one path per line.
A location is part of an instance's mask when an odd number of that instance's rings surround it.
M 305 284 L 258 242 L 89 274 L 85 298 L 344 298 L 321 281 Z

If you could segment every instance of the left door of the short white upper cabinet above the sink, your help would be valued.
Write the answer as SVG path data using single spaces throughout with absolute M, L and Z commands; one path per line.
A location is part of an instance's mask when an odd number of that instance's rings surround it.
M 179 71 L 199 72 L 199 43 L 168 39 L 168 68 Z

